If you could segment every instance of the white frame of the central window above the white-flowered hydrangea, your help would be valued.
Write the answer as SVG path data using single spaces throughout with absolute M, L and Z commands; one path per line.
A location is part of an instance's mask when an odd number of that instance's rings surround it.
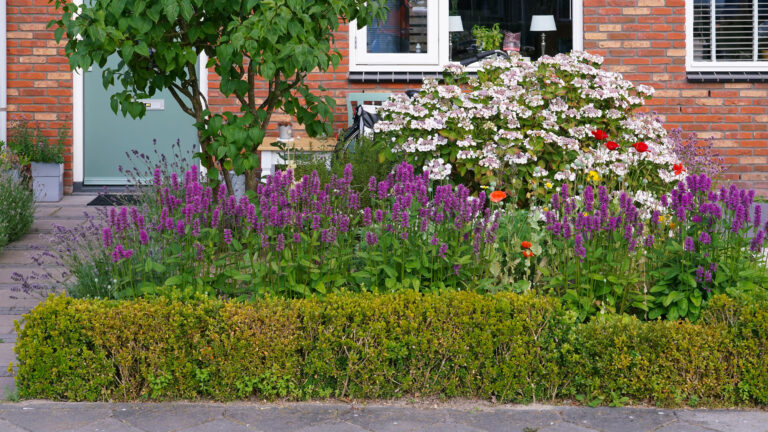
M 366 28 L 357 29 L 357 23 L 349 23 L 349 70 L 351 72 L 440 72 L 450 63 L 448 52 L 448 13 L 449 2 L 446 0 L 427 0 L 428 7 L 436 8 L 437 23 L 427 23 L 427 44 L 432 55 L 432 46 L 437 46 L 437 57 L 421 57 L 421 54 L 369 54 Z M 573 25 L 573 49 L 584 49 L 584 0 L 571 0 Z M 433 6 L 433 3 L 435 5 Z M 429 15 L 428 15 L 429 16 Z M 432 30 L 434 29 L 434 30 Z M 434 45 L 432 45 L 434 44 Z M 413 57 L 412 57 L 413 56 Z M 414 60 L 411 60 L 413 58 Z

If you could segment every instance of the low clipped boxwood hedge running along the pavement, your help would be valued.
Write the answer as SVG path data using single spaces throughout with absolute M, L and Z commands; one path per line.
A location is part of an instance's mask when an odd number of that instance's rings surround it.
M 556 299 L 511 293 L 248 304 L 60 296 L 17 331 L 23 398 L 768 404 L 768 307 L 725 297 L 697 324 L 573 324 Z

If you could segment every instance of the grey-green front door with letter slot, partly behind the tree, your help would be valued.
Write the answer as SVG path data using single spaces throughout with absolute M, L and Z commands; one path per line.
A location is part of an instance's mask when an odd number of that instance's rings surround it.
M 107 66 L 117 65 L 118 61 L 117 56 L 112 56 Z M 194 119 L 181 110 L 169 91 L 156 93 L 147 101 L 144 118 L 123 117 L 120 111 L 113 113 L 109 106 L 109 96 L 118 87 L 105 90 L 101 71 L 93 66 L 84 77 L 83 184 L 126 184 L 128 179 L 119 170 L 120 166 L 133 168 L 126 152 L 137 150 L 154 160 L 165 154 L 173 160 L 172 146 L 177 140 L 185 156 L 197 150 Z M 155 140 L 157 143 L 153 144 Z

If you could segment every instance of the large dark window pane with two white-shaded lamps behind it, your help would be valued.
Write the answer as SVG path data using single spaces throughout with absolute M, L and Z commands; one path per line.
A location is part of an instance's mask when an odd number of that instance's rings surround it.
M 451 60 L 458 61 L 483 50 L 472 34 L 475 26 L 512 33 L 519 40 L 522 55 L 536 59 L 541 55 L 541 32 L 531 32 L 533 15 L 553 15 L 557 30 L 546 32 L 546 54 L 569 52 L 573 47 L 571 0 L 450 0 L 450 15 L 461 16 L 464 31 L 451 33 Z M 519 38 L 519 39 L 518 39 Z M 503 39 L 502 39 L 503 40 Z M 502 43 L 495 49 L 501 49 Z M 517 44 L 515 44 L 517 45 Z

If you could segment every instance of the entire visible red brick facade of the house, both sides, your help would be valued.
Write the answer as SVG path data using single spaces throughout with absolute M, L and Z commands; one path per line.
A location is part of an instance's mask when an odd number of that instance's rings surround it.
M 7 14 L 9 119 L 42 123 L 51 136 L 59 128 L 71 131 L 72 75 L 63 49 L 46 29 L 53 8 L 48 0 L 9 0 Z M 312 85 L 324 86 L 337 101 L 334 130 L 346 126 L 347 93 L 416 87 L 351 84 L 348 34 L 346 25 L 336 34 L 336 46 L 344 56 L 339 68 L 309 77 Z M 584 0 L 584 49 L 603 55 L 610 70 L 655 87 L 647 108 L 658 112 L 668 127 L 714 137 L 731 165 L 729 179 L 768 191 L 768 84 L 686 81 L 685 0 Z M 209 102 L 213 111 L 237 110 L 236 103 L 219 93 L 213 72 Z M 273 124 L 284 118 L 275 116 Z M 298 125 L 294 127 L 301 134 Z M 65 185 L 71 191 L 71 151 L 66 161 Z

